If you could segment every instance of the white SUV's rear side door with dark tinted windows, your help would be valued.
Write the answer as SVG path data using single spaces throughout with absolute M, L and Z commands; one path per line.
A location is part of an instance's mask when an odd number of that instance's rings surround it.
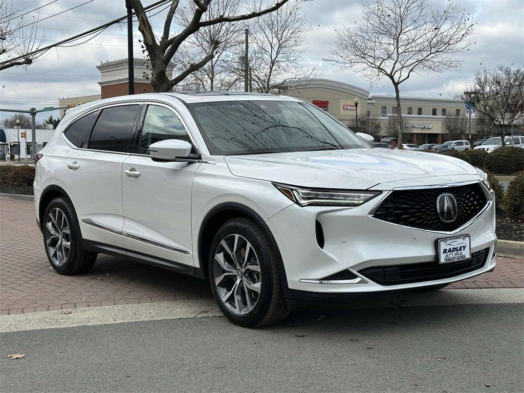
M 139 110 L 139 104 L 104 107 L 65 131 L 76 148 L 69 149 L 63 181 L 84 239 L 123 247 L 122 163 L 132 149 Z

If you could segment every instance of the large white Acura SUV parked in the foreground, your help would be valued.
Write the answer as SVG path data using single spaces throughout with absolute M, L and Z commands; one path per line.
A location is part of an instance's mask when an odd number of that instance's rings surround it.
M 357 135 L 266 94 L 73 108 L 35 157 L 51 266 L 79 274 L 105 253 L 208 278 L 243 326 L 280 320 L 291 299 L 436 289 L 495 268 L 484 172 Z

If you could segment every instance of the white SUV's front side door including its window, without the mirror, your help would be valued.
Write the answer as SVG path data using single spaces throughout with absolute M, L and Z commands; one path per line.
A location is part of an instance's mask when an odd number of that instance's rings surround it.
M 191 185 L 200 164 L 156 162 L 149 156 L 149 145 L 159 140 L 191 143 L 187 130 L 170 107 L 158 104 L 148 105 L 138 134 L 135 154 L 122 167 L 126 248 L 131 256 L 145 254 L 166 266 L 193 267 Z

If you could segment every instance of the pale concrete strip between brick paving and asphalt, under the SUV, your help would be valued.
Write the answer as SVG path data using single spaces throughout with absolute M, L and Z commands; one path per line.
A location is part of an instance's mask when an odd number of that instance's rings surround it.
M 359 298 L 336 307 L 366 309 L 498 303 L 524 303 L 524 288 L 449 289 L 427 293 L 391 293 L 377 298 Z M 61 314 L 58 310 L 2 315 L 0 316 L 0 332 L 222 316 L 213 299 L 108 305 L 72 309 L 71 311 L 70 314 Z

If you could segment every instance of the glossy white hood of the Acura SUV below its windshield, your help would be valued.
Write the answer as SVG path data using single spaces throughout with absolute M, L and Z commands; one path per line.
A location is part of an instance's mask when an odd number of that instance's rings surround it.
M 459 181 L 458 175 L 478 177 L 476 169 L 463 160 L 413 150 L 324 150 L 224 159 L 235 176 L 301 187 L 363 190 L 407 179 L 427 183 L 424 178 L 436 176 L 451 179 L 446 181 Z

